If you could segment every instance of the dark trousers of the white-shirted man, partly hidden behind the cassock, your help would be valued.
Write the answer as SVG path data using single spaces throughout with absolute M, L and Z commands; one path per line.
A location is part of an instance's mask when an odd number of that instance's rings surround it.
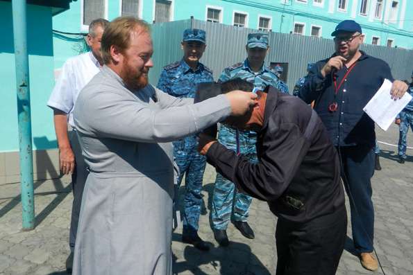
M 87 171 L 86 163 L 82 156 L 81 145 L 78 141 L 78 136 L 75 130 L 69 132 L 71 150 L 73 150 L 76 166 L 71 174 L 71 188 L 73 190 L 73 205 L 71 206 L 71 220 L 69 233 L 70 251 L 74 252 L 74 244 L 76 242 L 76 233 L 78 231 L 79 215 L 81 213 L 81 203 L 83 189 L 89 172 Z

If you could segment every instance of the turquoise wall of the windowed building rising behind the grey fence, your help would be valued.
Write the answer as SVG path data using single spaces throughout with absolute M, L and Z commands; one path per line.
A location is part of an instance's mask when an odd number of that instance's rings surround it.
M 106 0 L 108 6 L 107 19 L 112 20 L 118 17 L 121 0 Z M 142 1 L 142 18 L 148 22 L 153 21 L 153 3 L 154 0 Z M 371 44 L 373 36 L 380 37 L 380 45 L 385 46 L 387 39 L 394 39 L 394 45 L 402 48 L 413 48 L 413 1 L 399 0 L 398 19 L 401 19 L 401 11 L 405 2 L 405 18 L 402 28 L 398 21 L 384 21 L 385 9 L 389 1 L 384 0 L 382 20 L 372 18 L 371 4 L 376 0 L 369 0 L 369 9 L 366 16 L 360 15 L 361 0 L 348 0 L 346 12 L 338 10 L 338 0 L 323 0 L 323 6 L 314 6 L 313 0 L 307 0 L 307 3 L 301 3 L 296 0 L 172 0 L 174 6 L 174 20 L 189 19 L 194 16 L 195 19 L 205 20 L 206 6 L 215 6 L 222 8 L 222 23 L 233 24 L 233 12 L 248 13 L 248 28 L 258 28 L 259 15 L 269 16 L 272 19 L 271 28 L 273 31 L 280 33 L 290 33 L 294 30 L 294 22 L 305 24 L 304 35 L 310 35 L 311 25 L 321 26 L 321 36 L 331 38 L 330 34 L 334 30 L 337 22 L 344 19 L 355 19 L 362 24 L 363 32 L 366 35 L 365 43 Z M 334 1 L 333 12 L 330 13 L 330 3 Z M 355 17 L 353 18 L 353 3 L 355 6 Z M 69 33 L 85 32 L 81 28 L 81 5 L 83 1 L 78 0 L 70 3 L 70 10 L 53 17 L 53 28 L 56 30 L 66 31 Z M 60 38 L 53 38 L 53 47 L 55 51 L 55 69 L 62 66 L 68 57 L 77 55 L 81 43 L 67 42 Z

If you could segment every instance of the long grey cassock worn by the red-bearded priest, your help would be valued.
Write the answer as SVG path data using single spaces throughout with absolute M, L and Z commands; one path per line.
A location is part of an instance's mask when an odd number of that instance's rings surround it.
M 74 122 L 90 174 L 73 274 L 171 274 L 173 148 L 170 141 L 230 115 L 217 96 L 178 99 L 151 85 L 132 92 L 104 66 L 76 101 Z

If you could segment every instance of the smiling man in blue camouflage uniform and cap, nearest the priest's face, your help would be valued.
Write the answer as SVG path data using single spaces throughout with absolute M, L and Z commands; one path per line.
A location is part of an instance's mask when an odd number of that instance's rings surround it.
M 212 71 L 199 60 L 205 51 L 205 31 L 187 29 L 183 33 L 183 59 L 165 66 L 159 78 L 158 88 L 178 98 L 194 98 L 197 85 L 213 82 Z M 177 184 L 185 174 L 185 199 L 183 209 L 183 242 L 197 249 L 209 250 L 198 236 L 201 213 L 201 188 L 205 157 L 196 151 L 196 136 L 187 136 L 174 142 L 174 157 L 179 168 Z

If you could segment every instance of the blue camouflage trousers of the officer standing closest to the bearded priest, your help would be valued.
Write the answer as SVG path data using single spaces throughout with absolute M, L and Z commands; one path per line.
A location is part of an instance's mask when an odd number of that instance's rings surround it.
M 174 157 L 179 168 L 177 188 L 185 175 L 183 231 L 187 234 L 195 234 L 198 231 L 201 214 L 201 189 L 206 158 L 196 151 L 197 145 L 195 136 L 188 136 L 174 142 Z

